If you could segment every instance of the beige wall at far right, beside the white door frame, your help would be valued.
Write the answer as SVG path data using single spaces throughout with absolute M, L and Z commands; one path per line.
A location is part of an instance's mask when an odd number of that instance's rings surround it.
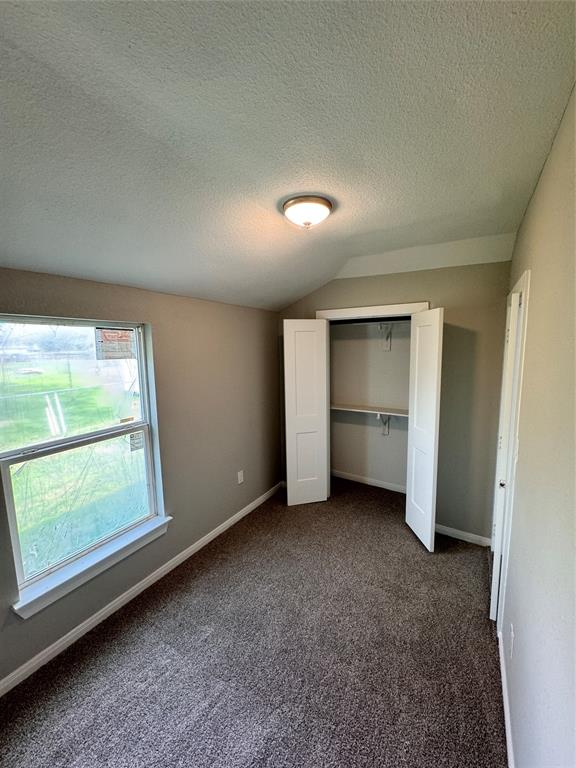
M 574 176 L 573 95 L 512 261 L 511 284 L 531 272 L 503 621 L 518 768 L 576 765 Z

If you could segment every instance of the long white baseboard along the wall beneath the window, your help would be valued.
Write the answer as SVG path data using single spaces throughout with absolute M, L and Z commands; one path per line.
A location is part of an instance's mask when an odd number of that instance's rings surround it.
M 77 627 L 71 629 L 70 632 L 67 632 L 59 640 L 56 640 L 56 642 L 52 643 L 52 645 L 49 645 L 48 648 L 40 651 L 40 653 L 38 653 L 32 659 L 27 661 L 25 664 L 22 664 L 21 667 L 18 667 L 18 669 L 14 670 L 14 672 L 11 672 L 7 677 L 0 680 L 0 696 L 3 696 L 11 688 L 14 688 L 15 685 L 21 683 L 33 672 L 36 672 L 37 669 L 40 669 L 40 667 L 49 662 L 64 649 L 68 648 L 69 645 L 72 645 L 72 643 L 76 642 L 76 640 L 79 640 L 82 635 L 86 634 L 86 632 L 89 632 L 97 624 L 100 624 L 101 621 L 107 619 L 108 616 L 111 616 L 119 608 L 122 608 L 123 605 L 129 603 L 130 600 L 136 597 L 136 595 L 139 595 L 140 592 L 143 592 L 145 589 L 154 584 L 155 581 L 158 581 L 158 579 L 161 579 L 178 565 L 181 565 L 191 555 L 193 555 L 195 552 L 198 552 L 198 550 L 202 549 L 202 547 L 205 547 L 206 544 L 212 541 L 212 539 L 215 539 L 221 533 L 224 533 L 227 528 L 230 528 L 230 526 L 234 525 L 234 523 L 237 523 L 238 520 L 245 517 L 245 515 L 252 512 L 254 509 L 256 509 L 256 507 L 259 507 L 261 504 L 267 501 L 276 493 L 281 485 L 281 483 L 277 483 L 273 488 L 270 488 L 270 490 L 266 491 L 266 493 L 263 493 L 262 496 L 259 496 L 257 499 L 254 499 L 254 501 L 251 501 L 250 504 L 245 506 L 239 512 L 236 512 L 236 514 L 232 515 L 232 517 L 229 517 L 219 526 L 210 531 L 210 533 L 207 533 L 206 536 L 203 536 L 201 539 L 187 547 L 171 560 L 168 560 L 167 563 L 161 565 L 160 568 L 157 568 L 151 574 L 146 576 L 146 578 L 142 579 L 142 581 L 139 581 L 138 584 L 134 584 L 133 587 L 130 587 L 130 589 L 126 590 L 126 592 L 123 592 L 117 598 L 112 600 L 111 603 L 105 605 L 104 608 L 101 608 L 81 624 L 78 624 Z

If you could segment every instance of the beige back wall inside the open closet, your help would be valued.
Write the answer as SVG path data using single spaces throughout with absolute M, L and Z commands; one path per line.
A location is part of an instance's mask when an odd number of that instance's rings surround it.
M 407 411 L 409 374 L 409 319 L 330 324 L 332 406 Z M 391 416 L 386 430 L 377 414 L 332 407 L 330 421 L 333 475 L 406 491 L 405 416 Z

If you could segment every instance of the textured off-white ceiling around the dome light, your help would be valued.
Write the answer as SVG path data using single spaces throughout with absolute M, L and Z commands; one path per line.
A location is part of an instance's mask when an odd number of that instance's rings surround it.
M 0 265 L 270 308 L 514 231 L 574 80 L 565 2 L 3 2 L 0 36 Z

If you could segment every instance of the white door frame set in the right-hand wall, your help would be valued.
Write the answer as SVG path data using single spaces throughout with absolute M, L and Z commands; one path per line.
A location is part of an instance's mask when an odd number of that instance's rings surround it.
M 490 618 L 496 621 L 497 631 L 501 630 L 506 582 L 508 577 L 508 562 L 510 555 L 510 540 L 512 538 L 512 517 L 514 511 L 516 464 L 519 449 L 520 406 L 522 398 L 522 378 L 524 373 L 524 356 L 526 349 L 526 329 L 528 324 L 528 299 L 530 294 L 530 270 L 526 270 L 510 291 L 508 298 L 518 295 L 518 317 L 515 328 L 515 338 L 508 339 L 514 344 L 514 363 L 503 371 L 500 397 L 510 391 L 510 408 L 500 409 L 498 423 L 497 464 L 494 480 L 494 505 L 492 521 L 492 584 L 490 600 Z M 507 324 L 508 325 L 508 324 Z M 506 329 L 508 332 L 508 328 Z M 504 364 L 506 361 L 504 360 Z M 498 452 L 505 452 L 505 456 Z M 502 471 L 499 471 L 502 470 Z M 501 486 L 500 483 L 504 483 Z M 497 494 L 506 491 L 504 504 L 497 503 Z

